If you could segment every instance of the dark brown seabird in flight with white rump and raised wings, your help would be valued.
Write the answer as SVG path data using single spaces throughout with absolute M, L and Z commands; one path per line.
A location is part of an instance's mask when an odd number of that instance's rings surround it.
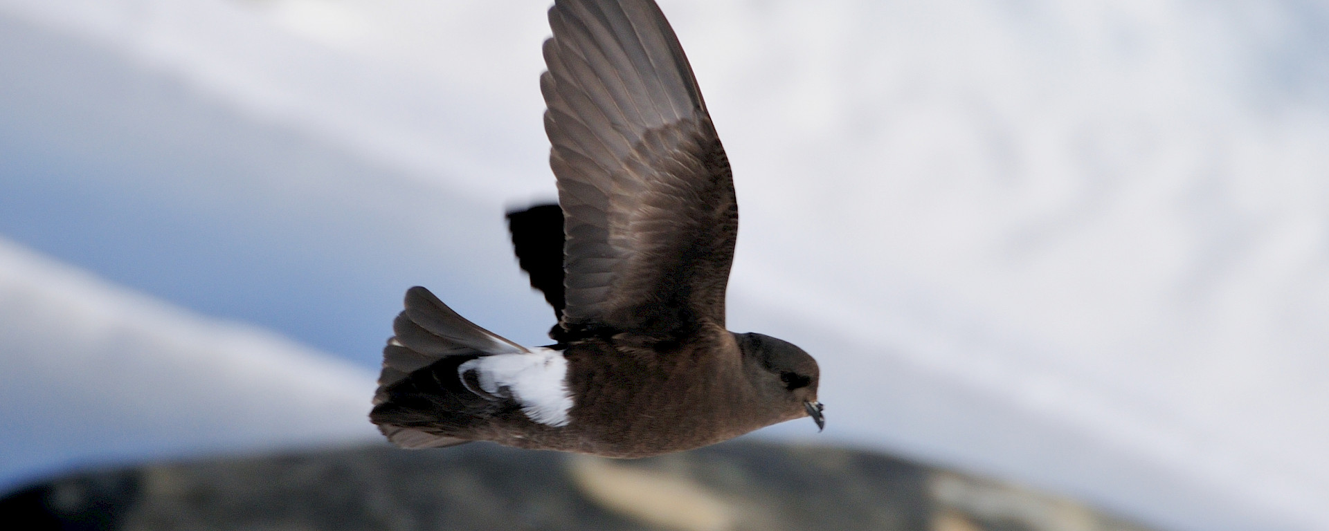
M 369 419 L 396 446 L 470 441 L 641 458 L 812 417 L 801 348 L 724 325 L 738 202 L 683 48 L 653 0 L 557 0 L 540 77 L 557 204 L 508 214 L 554 308 L 522 346 L 409 288 Z

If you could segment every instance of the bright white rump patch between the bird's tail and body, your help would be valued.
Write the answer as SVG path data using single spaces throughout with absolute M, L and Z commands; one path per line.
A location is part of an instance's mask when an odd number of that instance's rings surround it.
M 526 418 L 548 426 L 571 422 L 567 410 L 573 409 L 573 396 L 567 390 L 567 360 L 561 350 L 533 348 L 520 354 L 477 357 L 457 368 L 462 384 L 472 370 L 485 393 L 516 400 Z

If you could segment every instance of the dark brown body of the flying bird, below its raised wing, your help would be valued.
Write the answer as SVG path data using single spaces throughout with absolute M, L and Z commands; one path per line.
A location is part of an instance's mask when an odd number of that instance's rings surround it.
M 728 336 L 728 333 L 726 333 Z M 723 337 L 723 336 L 715 336 Z M 712 345 L 688 352 L 658 352 L 651 345 L 615 345 L 590 339 L 569 345 L 567 386 L 579 404 L 571 422 L 552 427 L 532 422 L 520 410 L 493 421 L 448 430 L 449 437 L 500 442 L 508 446 L 562 450 L 618 458 L 650 457 L 727 441 L 767 426 L 772 418 L 804 417 L 795 410 L 771 410 L 747 378 L 736 344 L 734 356 L 715 356 Z M 447 369 L 444 369 L 447 370 Z M 714 378 L 690 378 L 696 372 Z M 710 397 L 724 396 L 724 401 Z

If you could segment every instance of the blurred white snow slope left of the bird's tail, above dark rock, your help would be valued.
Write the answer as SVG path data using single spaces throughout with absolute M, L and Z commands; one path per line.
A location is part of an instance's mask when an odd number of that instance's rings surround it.
M 0 491 L 41 474 L 373 441 L 375 374 L 0 239 Z

